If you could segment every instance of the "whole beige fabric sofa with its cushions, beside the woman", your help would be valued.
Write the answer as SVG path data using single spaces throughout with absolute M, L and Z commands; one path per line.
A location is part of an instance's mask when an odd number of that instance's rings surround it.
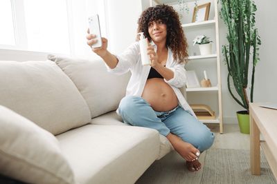
M 115 112 L 129 74 L 103 61 L 0 61 L 0 174 L 26 183 L 135 183 L 172 145 Z

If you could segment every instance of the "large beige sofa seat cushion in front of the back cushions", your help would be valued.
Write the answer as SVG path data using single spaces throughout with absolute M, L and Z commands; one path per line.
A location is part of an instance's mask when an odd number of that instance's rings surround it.
M 134 183 L 159 154 L 159 132 L 145 127 L 84 125 L 57 139 L 81 184 Z

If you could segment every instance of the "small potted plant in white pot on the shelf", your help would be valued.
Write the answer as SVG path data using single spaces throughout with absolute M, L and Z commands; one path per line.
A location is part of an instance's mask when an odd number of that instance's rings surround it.
M 199 50 L 201 55 L 208 55 L 212 52 L 212 45 L 209 37 L 205 35 L 199 35 L 193 40 L 193 45 L 199 44 Z

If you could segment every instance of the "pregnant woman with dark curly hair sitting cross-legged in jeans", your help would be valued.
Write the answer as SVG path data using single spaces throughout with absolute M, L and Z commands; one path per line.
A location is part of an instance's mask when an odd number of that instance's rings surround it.
M 132 72 L 118 112 L 125 123 L 158 130 L 186 159 L 188 170 L 197 171 L 201 168 L 199 152 L 211 147 L 214 135 L 197 120 L 179 90 L 186 84 L 184 63 L 188 45 L 178 14 L 171 6 L 150 7 L 139 18 L 138 32 L 144 32 L 150 43 L 148 66 L 141 63 L 139 42 L 118 56 L 107 50 L 105 38 L 101 48 L 92 48 L 105 61 L 109 72 Z M 90 46 L 96 43 L 93 34 L 88 34 L 87 40 Z

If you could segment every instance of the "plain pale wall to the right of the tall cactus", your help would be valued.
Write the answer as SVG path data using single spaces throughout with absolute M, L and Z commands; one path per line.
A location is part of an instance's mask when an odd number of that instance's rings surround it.
M 258 6 L 257 27 L 262 38 L 260 47 L 260 63 L 256 68 L 255 101 L 274 101 L 277 103 L 277 14 L 276 0 L 256 0 Z

